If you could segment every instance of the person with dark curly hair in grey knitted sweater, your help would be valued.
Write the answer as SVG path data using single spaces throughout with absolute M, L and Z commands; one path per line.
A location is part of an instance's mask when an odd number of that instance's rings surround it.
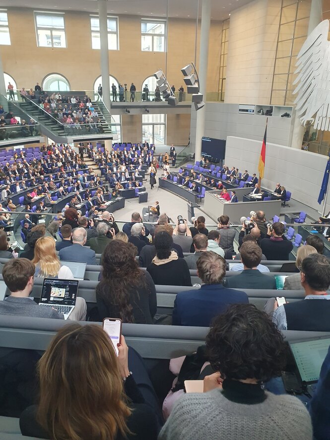
M 215 373 L 204 377 L 203 393 L 178 400 L 158 440 L 312 440 L 303 403 L 262 387 L 285 365 L 283 337 L 264 312 L 231 306 L 213 321 L 206 346 Z

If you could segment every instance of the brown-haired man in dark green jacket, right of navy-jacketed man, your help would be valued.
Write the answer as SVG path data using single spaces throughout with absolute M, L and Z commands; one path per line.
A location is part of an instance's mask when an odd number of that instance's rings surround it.
M 226 278 L 226 287 L 233 289 L 276 289 L 275 278 L 264 275 L 258 266 L 262 259 L 262 251 L 257 243 L 245 242 L 241 248 L 243 271 Z

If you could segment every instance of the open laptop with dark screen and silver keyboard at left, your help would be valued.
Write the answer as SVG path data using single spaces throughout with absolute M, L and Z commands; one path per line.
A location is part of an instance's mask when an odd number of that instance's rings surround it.
M 45 278 L 39 306 L 52 307 L 67 319 L 75 306 L 78 284 L 77 280 Z

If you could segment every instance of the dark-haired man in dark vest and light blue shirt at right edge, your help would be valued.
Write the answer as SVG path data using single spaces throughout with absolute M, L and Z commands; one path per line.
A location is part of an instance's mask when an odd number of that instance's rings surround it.
M 330 331 L 330 260 L 311 253 L 303 259 L 300 272 L 305 299 L 277 306 L 272 317 L 279 330 Z M 308 301 L 307 301 L 308 300 Z

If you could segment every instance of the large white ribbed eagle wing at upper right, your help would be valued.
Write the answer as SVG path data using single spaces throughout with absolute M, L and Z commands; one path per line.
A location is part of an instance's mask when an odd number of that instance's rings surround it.
M 330 122 L 330 43 L 329 20 L 322 21 L 307 37 L 297 56 L 298 74 L 293 84 L 296 112 L 303 126 L 329 130 Z

